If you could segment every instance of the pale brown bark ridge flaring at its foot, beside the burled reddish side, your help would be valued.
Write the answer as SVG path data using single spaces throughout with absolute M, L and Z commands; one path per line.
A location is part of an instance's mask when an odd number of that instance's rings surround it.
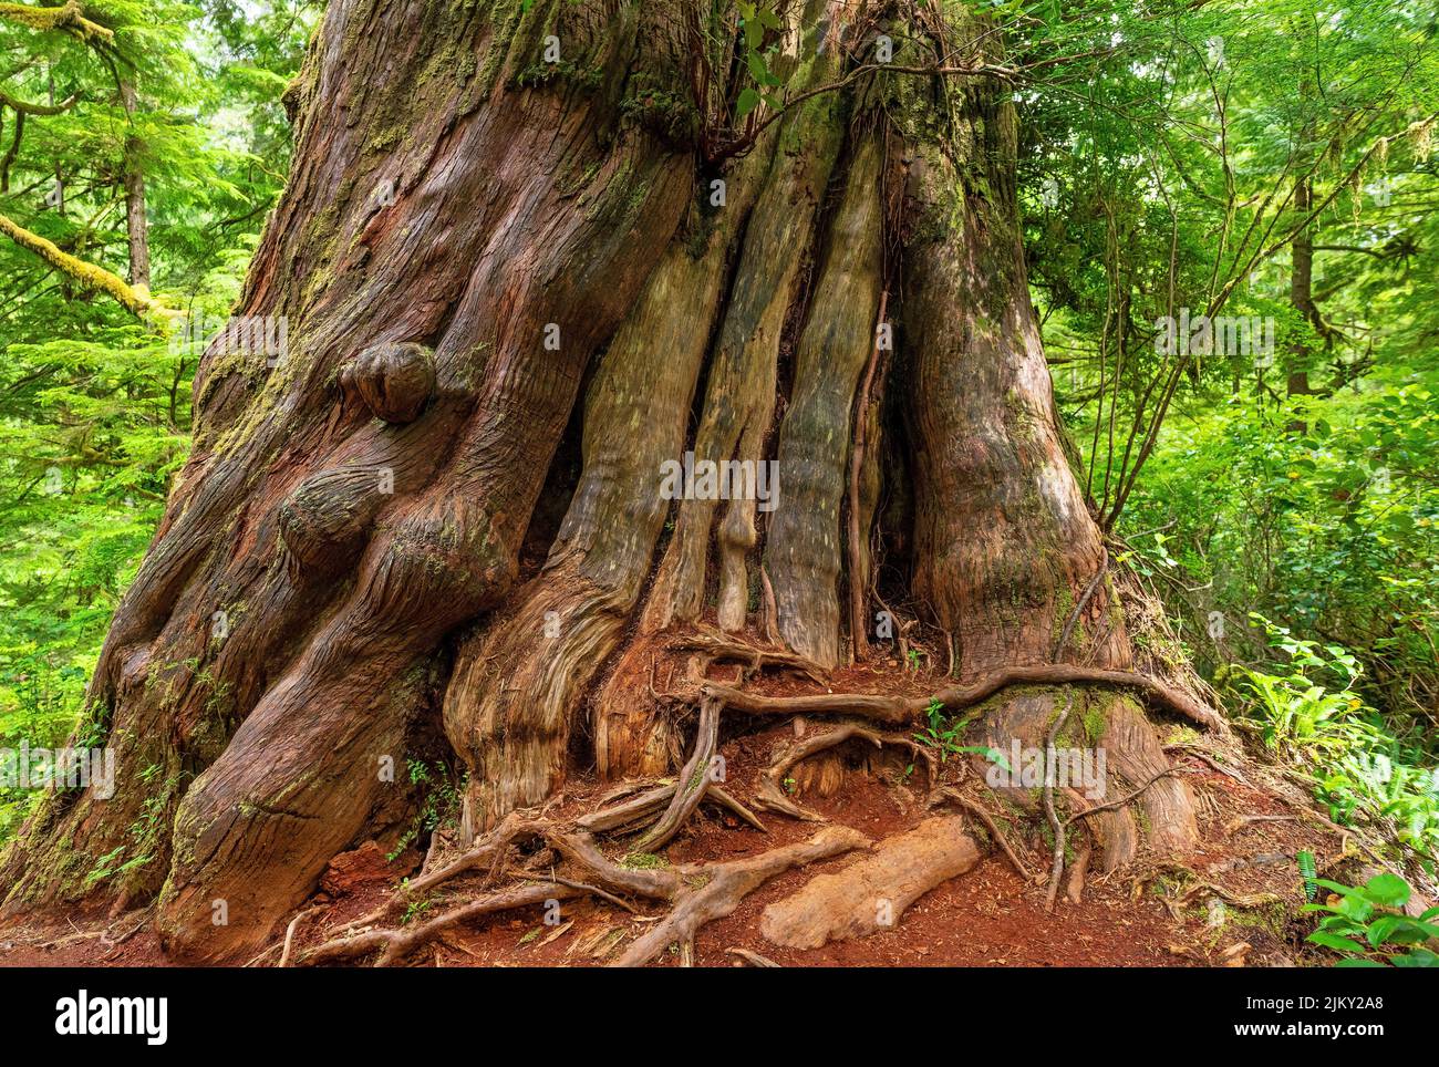
M 695 234 L 671 242 L 590 384 L 584 469 L 544 571 L 518 610 L 460 649 L 445 722 L 471 766 L 466 835 L 544 800 L 564 775 L 576 706 L 650 569 L 669 510 L 661 464 L 684 444 L 725 263 L 767 164 L 767 151 L 751 154 L 712 214 L 708 200 L 691 206 Z M 597 723 L 602 764 L 607 736 Z

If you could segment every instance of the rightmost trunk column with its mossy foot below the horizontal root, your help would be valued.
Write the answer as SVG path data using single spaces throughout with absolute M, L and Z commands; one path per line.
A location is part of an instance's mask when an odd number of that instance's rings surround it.
M 1124 611 L 1062 447 L 1029 301 L 1013 105 L 977 82 L 948 101 L 938 127 L 918 121 L 927 105 L 896 109 L 911 145 L 902 318 L 915 453 L 912 594 L 951 636 L 961 682 L 1056 660 L 1127 669 Z M 1071 716 L 1085 726 L 1071 743 L 1107 754 L 1107 797 L 1168 765 L 1153 726 L 1122 697 L 1002 693 L 976 729 L 1002 752 L 1016 739 L 1045 751 L 1050 723 L 1076 699 L 1092 706 Z M 1069 797 L 1072 810 L 1089 802 Z M 1143 835 L 1128 808 L 1086 820 L 1107 870 L 1132 860 L 1141 841 L 1181 851 L 1196 840 L 1183 784 L 1156 782 L 1138 808 Z

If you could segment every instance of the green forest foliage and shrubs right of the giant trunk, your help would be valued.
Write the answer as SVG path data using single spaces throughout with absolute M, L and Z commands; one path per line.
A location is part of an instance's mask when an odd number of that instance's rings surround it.
M 1016 102 L 1030 285 L 1095 515 L 1334 817 L 1432 854 L 1433 13 L 999 10 L 1014 66 L 1092 53 Z M 1184 315 L 1272 344 L 1176 351 Z

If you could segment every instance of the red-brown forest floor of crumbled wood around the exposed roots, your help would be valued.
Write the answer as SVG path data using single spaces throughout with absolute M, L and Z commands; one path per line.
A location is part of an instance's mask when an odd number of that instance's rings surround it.
M 863 670 L 863 669 L 861 669 Z M 836 679 L 855 684 L 859 679 Z M 873 682 L 873 679 L 871 679 Z M 855 684 L 862 689 L 862 684 Z M 1177 729 L 1177 728 L 1174 728 Z M 773 752 L 794 735 L 790 723 L 730 738 L 721 748 L 727 789 L 741 800 L 768 765 Z M 1176 736 L 1181 736 L 1176 733 Z M 1193 732 L 1183 733 L 1193 739 Z M 1207 742 L 1207 739 L 1204 739 Z M 699 966 L 743 965 L 731 949 L 747 949 L 781 966 L 1289 966 L 1318 962 L 1308 956 L 1304 933 L 1312 926 L 1297 917 L 1304 884 L 1299 850 L 1314 854 L 1322 873 L 1337 864 L 1345 841 L 1299 802 L 1285 798 L 1272 781 L 1250 784 L 1253 764 L 1235 764 L 1220 754 L 1220 772 L 1177 748 L 1173 756 L 1196 798 L 1199 847 L 1174 864 L 1140 861 L 1109 876 L 1091 871 L 1079 903 L 1061 892 L 1053 913 L 1045 912 L 1043 879 L 1026 884 L 1003 853 L 970 818 L 987 853 L 973 870 L 930 890 L 892 929 L 833 940 L 812 951 L 770 943 L 760 932 L 766 906 L 796 893 L 822 871 L 839 870 L 855 854 L 786 871 L 747 896 L 738 909 L 704 926 L 695 939 Z M 941 779 L 973 775 L 950 758 Z M 871 764 L 863 749 L 848 754 L 848 772 L 833 795 L 807 794 L 799 801 L 832 824 L 853 827 L 879 841 L 935 814 L 927 807 L 922 765 L 907 777 L 892 761 Z M 836 764 L 839 766 L 839 764 Z M 1242 781 L 1240 781 L 1242 779 Z M 604 787 L 573 781 L 551 818 L 594 807 Z M 1258 817 L 1258 818 L 1256 818 Z M 786 815 L 763 812 L 761 833 L 728 812 L 704 808 L 671 843 L 671 863 L 732 860 L 809 837 L 814 827 Z M 1048 871 L 1049 846 L 1039 833 L 1016 840 L 1033 871 Z M 1353 851 L 1350 851 L 1353 856 Z M 344 923 L 380 905 L 420 863 L 414 850 L 387 861 L 376 843 L 345 853 L 331 864 L 317 910 L 299 923 L 295 952 L 317 945 Z M 465 876 L 448 890 L 463 892 Z M 1066 877 L 1068 880 L 1068 877 Z M 1227 900 L 1223 906 L 1216 902 Z M 417 912 L 425 916 L 423 909 Z M 440 910 L 435 906 L 435 910 Z M 137 913 L 138 915 L 138 913 Z M 567 902 L 558 922 L 527 907 L 499 913 L 443 933 L 404 962 L 412 966 L 593 966 L 616 955 L 648 923 L 663 915 L 659 905 L 629 913 L 603 899 Z M 134 933 L 118 940 L 135 928 Z M 273 956 L 266 961 L 273 965 Z M 673 961 L 661 961 L 661 965 Z M 148 923 L 72 916 L 56 922 L 0 928 L 0 966 L 165 966 L 170 961 Z

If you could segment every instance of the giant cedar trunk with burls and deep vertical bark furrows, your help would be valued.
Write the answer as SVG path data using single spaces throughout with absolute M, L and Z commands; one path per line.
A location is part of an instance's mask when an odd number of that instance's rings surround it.
M 686 3 L 331 1 L 237 309 L 285 316 L 288 352 L 206 354 L 194 452 L 89 690 L 119 792 L 50 798 L 6 860 L 12 909 L 158 896 L 173 949 L 233 958 L 400 821 L 381 768 L 425 722 L 442 712 L 469 769 L 468 834 L 587 765 L 672 771 L 659 637 L 712 620 L 843 664 L 872 544 L 960 682 L 1130 666 L 1029 306 L 1007 95 L 865 75 L 705 160 L 743 65 L 734 13 L 717 6 L 715 53 Z M 789 4 L 773 65 L 791 93 L 827 85 L 878 32 L 911 66 L 997 58 L 937 10 Z M 705 47 L 720 76 L 696 99 Z M 896 344 L 876 351 L 881 306 Z M 777 509 L 663 499 L 685 450 L 777 460 Z M 557 534 L 543 490 L 568 499 Z M 1166 765 L 1102 687 L 1003 689 L 979 729 L 1043 743 L 1075 700 L 1117 781 Z M 1157 844 L 1189 841 L 1183 785 L 1141 804 Z M 1138 844 L 1122 808 L 1097 833 L 1111 866 Z

